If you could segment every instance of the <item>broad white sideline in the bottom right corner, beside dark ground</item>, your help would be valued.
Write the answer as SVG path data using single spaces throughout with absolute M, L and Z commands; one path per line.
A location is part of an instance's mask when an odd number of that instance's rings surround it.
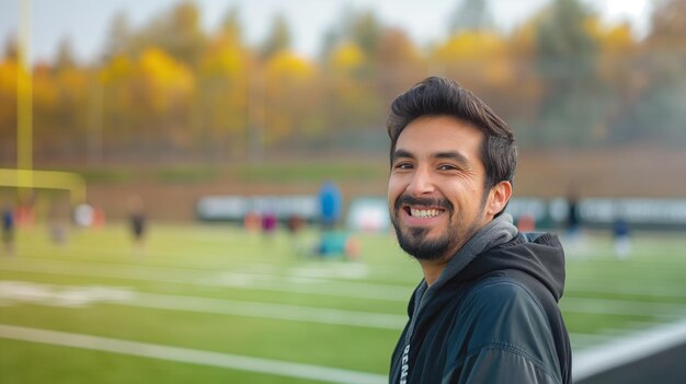
M 585 349 L 573 357 L 572 379 L 584 380 L 684 342 L 686 342 L 686 321 L 681 321 Z

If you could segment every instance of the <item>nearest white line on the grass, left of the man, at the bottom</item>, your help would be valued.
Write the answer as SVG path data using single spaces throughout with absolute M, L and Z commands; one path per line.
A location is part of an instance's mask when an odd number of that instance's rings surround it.
M 382 384 L 385 375 L 239 354 L 0 324 L 0 338 L 341 384 Z

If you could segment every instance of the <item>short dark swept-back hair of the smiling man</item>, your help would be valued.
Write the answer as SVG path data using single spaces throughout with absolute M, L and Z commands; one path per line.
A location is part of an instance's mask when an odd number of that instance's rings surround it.
M 391 104 L 386 120 L 391 141 L 391 161 L 402 130 L 412 120 L 423 116 L 450 116 L 483 132 L 485 139 L 481 147 L 481 161 L 485 167 L 487 194 L 502 181 L 513 183 L 517 148 L 512 130 L 483 101 L 444 78 L 426 78 Z

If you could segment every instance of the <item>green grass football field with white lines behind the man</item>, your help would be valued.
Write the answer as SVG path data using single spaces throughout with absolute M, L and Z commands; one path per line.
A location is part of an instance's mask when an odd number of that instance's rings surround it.
M 384 383 L 419 266 L 390 234 L 357 260 L 298 254 L 228 225 L 123 225 L 50 242 L 22 229 L 0 254 L 0 382 Z M 605 233 L 568 251 L 561 307 L 575 353 L 686 317 L 686 240 L 639 233 L 629 259 Z

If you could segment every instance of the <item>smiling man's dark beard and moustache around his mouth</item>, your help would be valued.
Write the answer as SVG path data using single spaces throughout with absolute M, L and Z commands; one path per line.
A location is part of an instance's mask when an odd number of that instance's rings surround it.
M 444 233 L 436 238 L 426 238 L 426 235 L 431 231 L 428 228 L 423 226 L 410 226 L 404 231 L 400 228 L 400 209 L 403 205 L 410 206 L 427 206 L 427 207 L 441 207 L 445 209 L 445 213 L 448 217 L 448 224 Z M 483 212 L 484 205 L 482 203 L 479 217 Z M 454 253 L 459 249 L 477 231 L 477 222 L 470 223 L 468 228 L 464 229 L 462 233 L 459 233 L 459 226 L 466 225 L 464 216 L 457 213 L 455 216 L 455 209 L 450 201 L 445 199 L 424 199 L 413 198 L 408 195 L 402 195 L 396 200 L 393 205 L 393 212 L 391 214 L 391 223 L 396 229 L 396 236 L 400 247 L 416 258 L 418 260 L 439 260 L 449 256 L 448 253 Z

